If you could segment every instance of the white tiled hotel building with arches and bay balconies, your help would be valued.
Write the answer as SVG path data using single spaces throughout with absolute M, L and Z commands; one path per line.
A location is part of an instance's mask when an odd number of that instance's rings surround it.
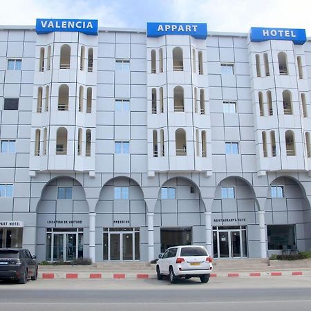
M 310 41 L 0 28 L 0 247 L 310 249 Z

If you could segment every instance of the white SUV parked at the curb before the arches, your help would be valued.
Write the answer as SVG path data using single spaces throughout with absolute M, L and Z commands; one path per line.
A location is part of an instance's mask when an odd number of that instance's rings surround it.
M 198 276 L 202 283 L 207 283 L 213 265 L 204 246 L 174 246 L 169 247 L 163 255 L 159 255 L 156 270 L 158 280 L 161 280 L 163 275 L 168 275 L 169 281 L 176 283 L 177 279 L 182 277 L 190 279 Z

